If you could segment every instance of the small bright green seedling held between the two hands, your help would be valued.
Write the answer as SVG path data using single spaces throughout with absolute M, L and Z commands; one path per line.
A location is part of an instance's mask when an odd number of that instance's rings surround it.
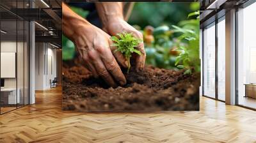
M 141 52 L 139 50 L 134 49 L 141 43 L 141 40 L 134 37 L 132 33 L 120 33 L 117 35 L 118 37 L 117 36 L 111 37 L 111 40 L 114 41 L 113 45 L 111 46 L 116 47 L 115 52 L 120 51 L 122 54 L 124 54 L 128 62 L 127 73 L 129 73 L 131 68 L 131 63 L 130 63 L 130 58 L 132 56 L 131 54 L 134 52 L 138 55 L 141 55 Z

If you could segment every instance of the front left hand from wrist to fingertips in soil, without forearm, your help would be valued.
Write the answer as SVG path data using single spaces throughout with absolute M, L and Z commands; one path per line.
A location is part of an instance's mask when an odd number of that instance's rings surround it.
M 122 73 L 120 63 L 127 67 L 127 61 L 120 52 L 113 54 L 111 52 L 110 36 L 101 29 L 86 24 L 79 26 L 72 36 L 72 40 L 76 45 L 79 56 L 87 65 L 88 70 L 93 73 L 95 78 L 102 77 L 109 86 L 116 87 L 116 82 L 122 86 L 126 84 L 124 74 Z M 112 49 L 114 50 L 114 49 Z

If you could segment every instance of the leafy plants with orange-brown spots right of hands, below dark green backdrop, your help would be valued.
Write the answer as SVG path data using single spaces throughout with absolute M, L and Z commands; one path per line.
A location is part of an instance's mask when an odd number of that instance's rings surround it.
M 188 14 L 177 26 L 147 26 L 143 29 L 147 64 L 173 70 L 185 69 L 185 74 L 200 71 L 199 4 L 191 3 L 196 11 Z

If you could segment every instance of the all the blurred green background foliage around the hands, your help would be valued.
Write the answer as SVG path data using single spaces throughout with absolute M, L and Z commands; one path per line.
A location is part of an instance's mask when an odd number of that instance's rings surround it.
M 86 17 L 87 11 L 72 7 Z M 185 73 L 200 71 L 199 3 L 135 3 L 129 24 L 143 33 L 147 64 Z M 74 44 L 63 36 L 63 60 L 75 56 Z

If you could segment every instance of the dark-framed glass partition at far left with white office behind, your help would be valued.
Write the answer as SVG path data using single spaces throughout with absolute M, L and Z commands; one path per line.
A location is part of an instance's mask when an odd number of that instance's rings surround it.
M 0 1 L 1 6 L 13 13 L 24 12 L 26 1 Z M 16 9 L 19 8 L 19 9 Z M 1 113 L 29 103 L 29 23 L 0 8 L 1 20 Z M 19 11 L 21 10 L 21 11 Z M 24 13 L 23 13 L 24 14 Z M 8 72 L 6 72 L 8 71 Z

